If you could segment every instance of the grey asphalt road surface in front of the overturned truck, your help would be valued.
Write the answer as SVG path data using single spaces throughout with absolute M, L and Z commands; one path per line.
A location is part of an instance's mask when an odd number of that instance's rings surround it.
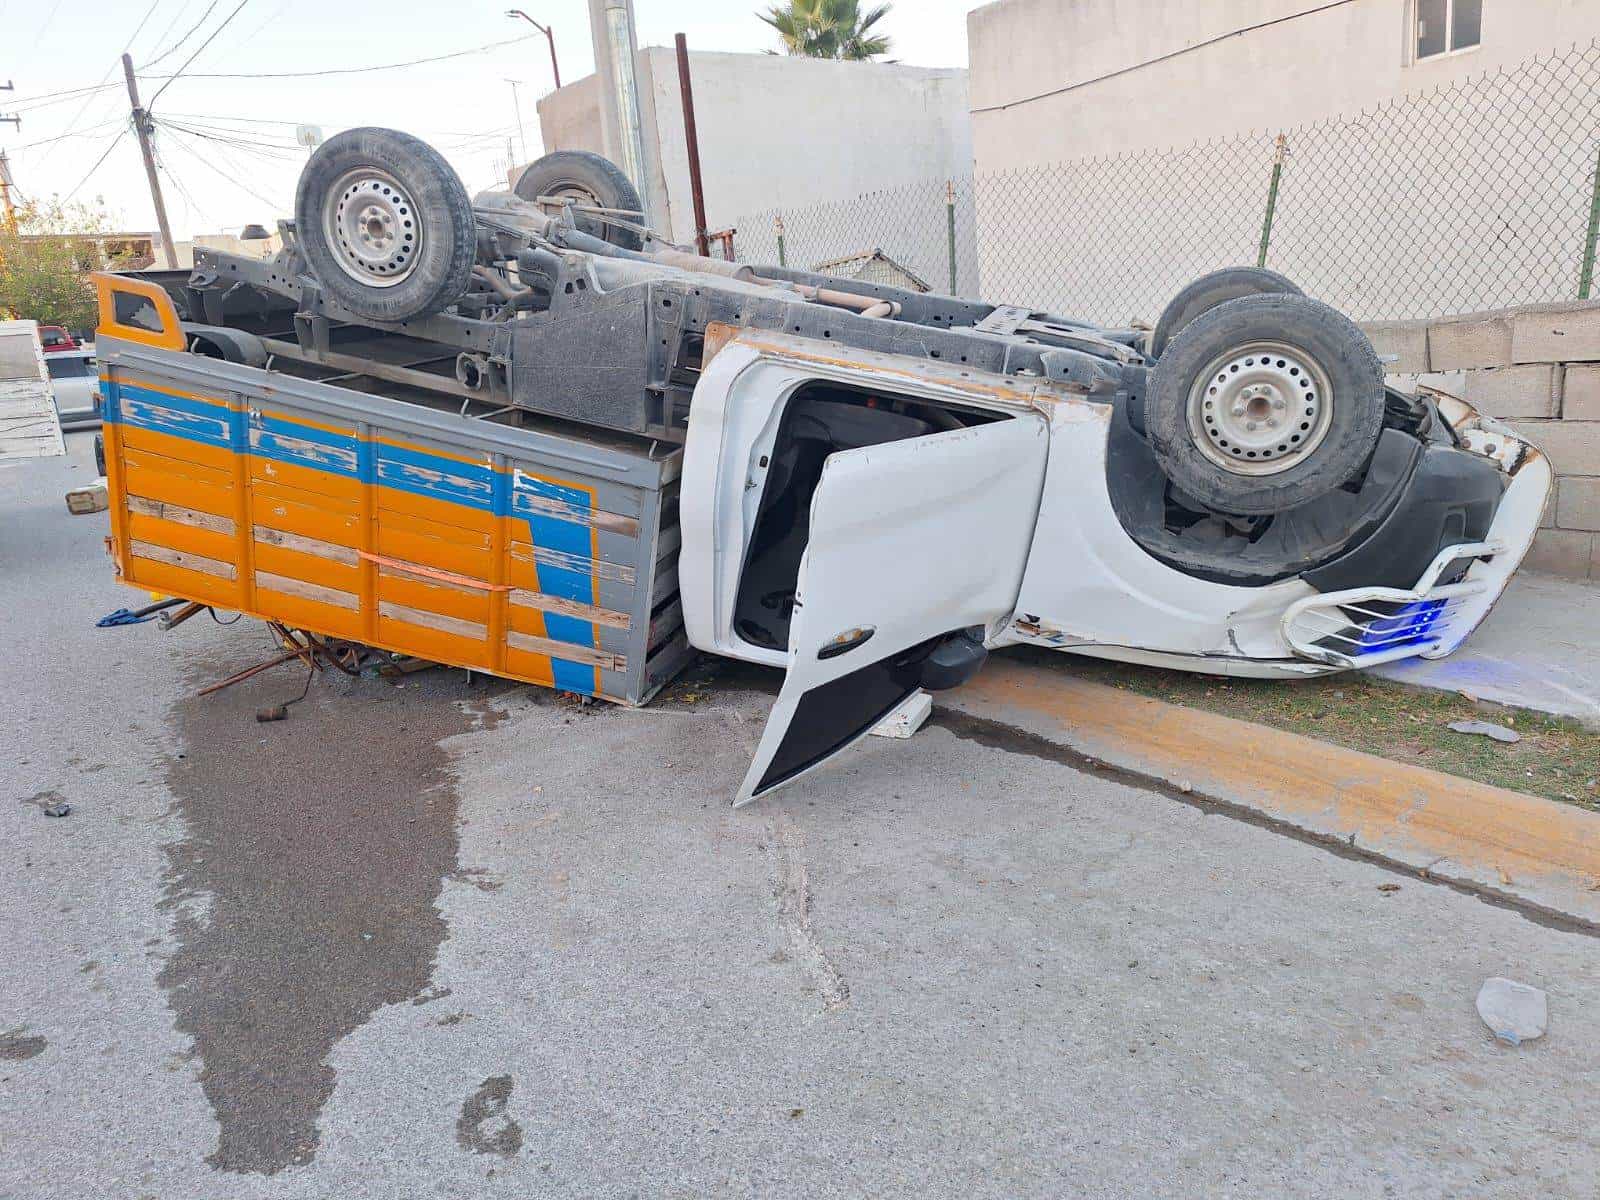
M 258 725 L 258 626 L 93 629 L 88 443 L 0 469 L 0 1197 L 1597 1194 L 1592 936 L 962 720 L 734 813 L 763 674 Z

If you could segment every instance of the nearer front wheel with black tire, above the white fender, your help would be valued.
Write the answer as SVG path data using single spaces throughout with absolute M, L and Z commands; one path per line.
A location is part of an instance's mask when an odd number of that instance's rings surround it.
M 1219 514 L 1286 512 L 1333 491 L 1366 467 L 1382 424 L 1371 342 L 1309 296 L 1219 304 L 1150 371 L 1150 448 L 1178 488 Z

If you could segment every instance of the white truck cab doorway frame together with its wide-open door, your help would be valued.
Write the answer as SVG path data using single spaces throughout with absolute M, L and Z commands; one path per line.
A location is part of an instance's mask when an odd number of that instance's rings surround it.
M 691 642 L 789 672 L 734 803 L 976 670 L 1016 605 L 1050 442 L 1026 392 L 766 338 L 701 379 L 683 466 Z

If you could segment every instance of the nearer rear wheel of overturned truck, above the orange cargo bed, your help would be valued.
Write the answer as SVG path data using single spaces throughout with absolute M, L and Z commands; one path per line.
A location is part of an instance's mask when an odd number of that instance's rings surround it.
M 376 240 L 363 243 L 368 227 Z M 294 230 L 323 291 L 373 322 L 453 304 L 477 261 L 467 189 L 438 150 L 397 130 L 346 130 L 325 141 L 301 171 Z

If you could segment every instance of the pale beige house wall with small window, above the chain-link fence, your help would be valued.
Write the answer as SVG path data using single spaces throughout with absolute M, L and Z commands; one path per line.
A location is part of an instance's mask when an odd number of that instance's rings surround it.
M 966 18 L 978 173 L 1352 115 L 1597 34 L 1595 0 L 997 0 Z

